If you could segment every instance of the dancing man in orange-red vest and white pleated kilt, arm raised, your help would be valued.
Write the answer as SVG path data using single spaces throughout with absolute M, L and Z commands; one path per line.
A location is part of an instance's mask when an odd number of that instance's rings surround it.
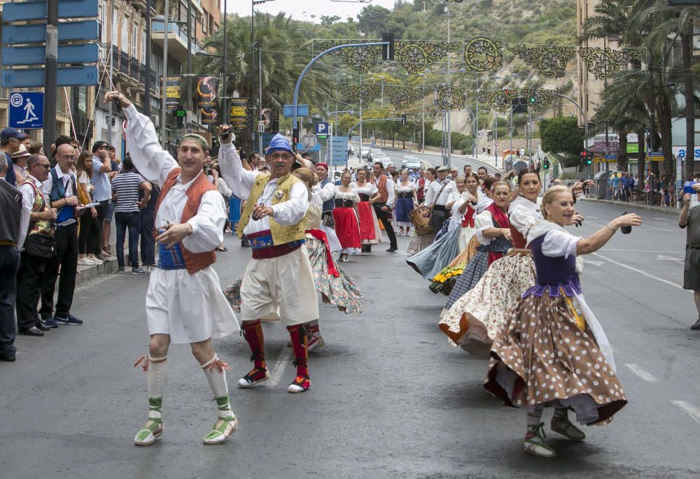
M 148 421 L 134 444 L 150 445 L 163 432 L 161 408 L 167 379 L 170 343 L 190 343 L 193 355 L 214 392 L 218 419 L 204 436 L 205 444 L 220 444 L 236 430 L 226 385 L 228 364 L 218 359 L 211 338 L 239 331 L 238 322 L 221 292 L 214 249 L 223 241 L 226 208 L 221 194 L 202 172 L 209 145 L 202 136 L 180 139 L 178 161 L 158 143 L 153 123 L 119 92 L 127 116 L 127 149 L 141 175 L 162 185 L 155 206 L 158 269 L 151 273 L 146 293 L 146 320 L 151 335 L 149 354 L 138 365 L 148 374 Z

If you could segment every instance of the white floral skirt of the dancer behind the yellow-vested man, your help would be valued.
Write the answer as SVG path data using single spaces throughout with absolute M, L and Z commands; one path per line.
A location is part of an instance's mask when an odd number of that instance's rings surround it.
M 363 299 L 360 289 L 355 281 L 348 276 L 340 266 L 335 264 L 335 270 L 340 276 L 332 276 L 328 272 L 328 262 L 325 255 L 325 245 L 316 238 L 306 238 L 305 248 L 309 252 L 309 262 L 311 271 L 314 273 L 314 285 L 316 291 L 321 293 L 324 303 L 330 303 L 345 313 L 362 313 Z M 224 289 L 224 296 L 234 311 L 241 311 L 241 282 L 239 278 L 234 283 Z M 262 318 L 270 320 L 272 318 Z

